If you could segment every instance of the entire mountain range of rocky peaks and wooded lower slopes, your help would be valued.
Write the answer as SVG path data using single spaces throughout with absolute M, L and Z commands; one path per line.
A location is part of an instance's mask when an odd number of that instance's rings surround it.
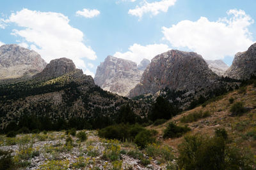
M 228 69 L 220 60 L 205 61 L 197 53 L 179 50 L 161 53 L 151 62 L 142 60 L 138 66 L 108 56 L 97 68 L 93 80 L 70 59 L 55 59 L 46 65 L 34 51 L 3 45 L 0 47 L 1 129 L 31 115 L 51 121 L 80 118 L 94 125 L 102 122 L 103 127 L 118 118 L 118 114 L 122 115 L 120 109 L 127 104 L 136 115 L 147 117 L 157 96 L 173 104 L 180 103 L 186 109 L 193 101 L 205 101 L 237 88 L 240 80 L 255 74 L 255 51 L 256 44 L 246 52 L 237 53 Z M 8 81 L 4 81 L 6 78 Z M 9 81 L 11 78 L 18 79 Z M 147 103 L 138 96 L 153 98 Z

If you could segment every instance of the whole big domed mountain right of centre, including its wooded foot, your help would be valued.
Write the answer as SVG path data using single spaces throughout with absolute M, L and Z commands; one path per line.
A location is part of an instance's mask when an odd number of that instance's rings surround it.
M 200 96 L 215 96 L 234 87 L 234 83 L 220 79 L 201 55 L 170 50 L 151 60 L 140 83 L 129 92 L 129 97 L 161 95 L 172 102 L 182 103 L 180 106 L 183 107 L 194 99 L 200 99 Z

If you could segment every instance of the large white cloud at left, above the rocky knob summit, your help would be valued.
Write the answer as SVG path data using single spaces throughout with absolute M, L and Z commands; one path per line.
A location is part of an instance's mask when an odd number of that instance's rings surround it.
M 46 62 L 60 57 L 72 59 L 77 67 L 86 71 L 83 59 L 95 60 L 95 52 L 83 43 L 83 32 L 68 24 L 61 13 L 23 9 L 5 20 L 24 29 L 14 29 L 12 34 L 30 43 L 30 48 L 40 53 Z

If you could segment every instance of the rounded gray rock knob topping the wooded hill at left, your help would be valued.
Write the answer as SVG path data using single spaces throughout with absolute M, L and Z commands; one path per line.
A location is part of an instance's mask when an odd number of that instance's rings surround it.
M 76 65 L 72 60 L 67 58 L 60 58 L 51 60 L 45 69 L 41 73 L 36 74 L 34 77 L 42 79 L 54 78 L 69 73 L 70 71 L 74 71 L 75 69 Z

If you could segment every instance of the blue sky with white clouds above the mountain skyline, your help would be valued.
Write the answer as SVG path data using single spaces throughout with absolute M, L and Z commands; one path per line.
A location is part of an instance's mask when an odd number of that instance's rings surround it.
M 140 63 L 177 49 L 229 66 L 256 42 L 255 0 L 1 0 L 0 45 L 94 76 L 108 55 Z

